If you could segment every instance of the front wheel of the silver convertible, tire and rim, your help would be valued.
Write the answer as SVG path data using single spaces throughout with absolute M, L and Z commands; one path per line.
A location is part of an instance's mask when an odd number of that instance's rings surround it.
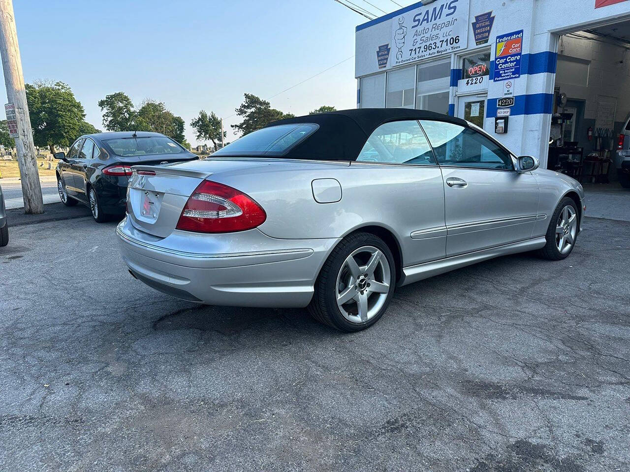
M 551 216 L 545 239 L 547 244 L 539 250 L 539 256 L 549 261 L 561 261 L 569 257 L 575 247 L 580 227 L 580 216 L 575 201 L 564 198 Z

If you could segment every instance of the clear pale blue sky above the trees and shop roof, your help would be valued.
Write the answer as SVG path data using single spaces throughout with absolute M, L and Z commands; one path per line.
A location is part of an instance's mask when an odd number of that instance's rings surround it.
M 387 11 L 391 0 L 368 0 Z M 352 0 L 377 12 L 365 0 Z M 396 0 L 404 6 L 413 0 Z M 186 122 L 214 111 L 229 125 L 244 93 L 267 99 L 354 55 L 368 21 L 334 0 L 14 0 L 26 82 L 63 81 L 86 120 L 103 129 L 98 101 L 123 91 L 135 104 L 163 101 Z M 382 12 L 378 12 L 382 14 Z M 3 82 L 3 81 L 0 81 Z M 6 103 L 4 82 L 3 97 Z M 354 59 L 270 99 L 304 115 L 357 106 Z M 4 110 L 1 111 L 4 115 Z

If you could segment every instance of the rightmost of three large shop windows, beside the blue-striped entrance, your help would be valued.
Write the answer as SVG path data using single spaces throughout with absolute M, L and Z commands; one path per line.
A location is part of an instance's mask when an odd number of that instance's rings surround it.
M 416 108 L 449 112 L 450 60 L 418 65 Z

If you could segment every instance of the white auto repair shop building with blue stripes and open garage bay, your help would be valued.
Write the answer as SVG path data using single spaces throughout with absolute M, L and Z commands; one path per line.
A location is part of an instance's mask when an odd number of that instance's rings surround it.
M 357 26 L 357 106 L 459 116 L 541 167 L 611 159 L 629 49 L 630 0 L 425 0 Z

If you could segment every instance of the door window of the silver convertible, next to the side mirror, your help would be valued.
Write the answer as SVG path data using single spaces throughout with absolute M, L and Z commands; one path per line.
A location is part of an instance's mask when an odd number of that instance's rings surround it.
M 473 128 L 445 121 L 420 121 L 440 166 L 514 170 L 512 157 Z

